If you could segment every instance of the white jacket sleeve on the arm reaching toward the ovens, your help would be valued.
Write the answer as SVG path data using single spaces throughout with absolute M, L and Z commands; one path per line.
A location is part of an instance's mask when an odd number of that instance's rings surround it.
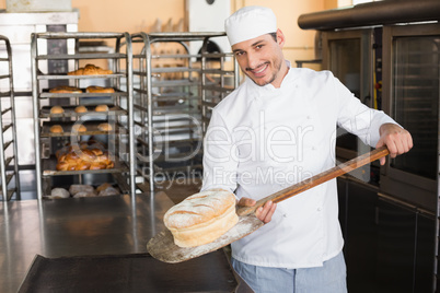
M 334 78 L 338 98 L 337 125 L 358 136 L 366 144 L 375 146 L 380 139 L 379 128 L 383 124 L 397 124 L 382 110 L 362 104 L 338 79 Z

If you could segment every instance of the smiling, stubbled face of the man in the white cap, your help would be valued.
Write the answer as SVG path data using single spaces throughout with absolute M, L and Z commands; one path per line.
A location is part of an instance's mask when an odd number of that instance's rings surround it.
M 244 40 L 232 46 L 236 61 L 243 72 L 256 84 L 281 85 L 287 73 L 282 55 L 283 35 L 277 32 L 277 42 L 269 34 Z

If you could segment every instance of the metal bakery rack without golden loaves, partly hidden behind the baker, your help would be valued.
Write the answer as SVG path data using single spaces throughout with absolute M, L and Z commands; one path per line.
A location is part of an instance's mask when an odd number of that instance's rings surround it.
M 238 85 L 232 54 L 208 48 L 224 35 L 131 35 L 137 181 L 142 191 L 153 191 L 162 180 L 201 175 L 210 109 Z

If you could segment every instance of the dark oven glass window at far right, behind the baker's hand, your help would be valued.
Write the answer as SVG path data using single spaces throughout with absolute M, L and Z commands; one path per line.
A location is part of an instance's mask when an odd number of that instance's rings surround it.
M 436 179 L 440 37 L 397 37 L 393 43 L 393 116 L 412 133 L 414 148 L 391 166 Z

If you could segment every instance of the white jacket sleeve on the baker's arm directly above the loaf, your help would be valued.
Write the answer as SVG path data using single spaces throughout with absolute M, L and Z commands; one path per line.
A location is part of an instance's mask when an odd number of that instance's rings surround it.
M 204 184 L 201 190 L 222 188 L 236 189 L 238 162 L 231 152 L 233 137 L 220 114 L 212 110 L 211 120 L 204 139 Z

